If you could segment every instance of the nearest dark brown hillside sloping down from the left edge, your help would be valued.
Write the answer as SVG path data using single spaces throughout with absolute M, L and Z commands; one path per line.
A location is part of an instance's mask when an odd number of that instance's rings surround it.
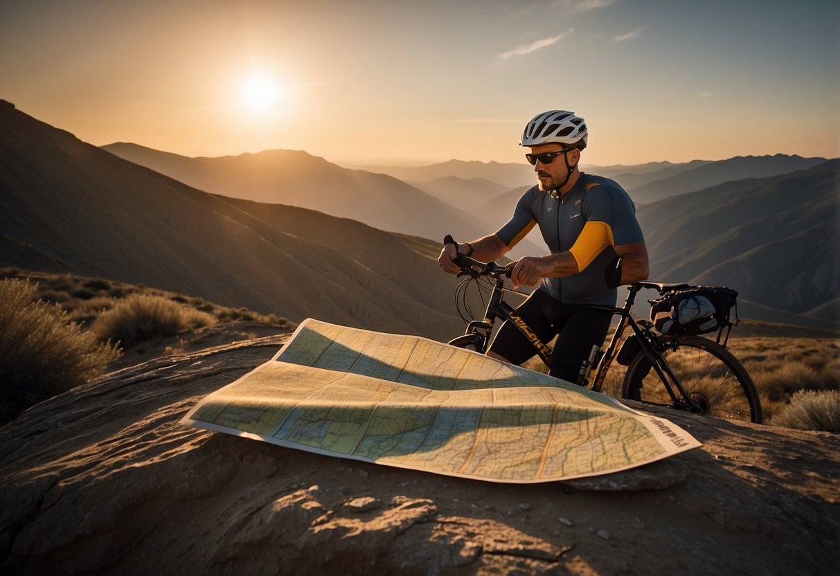
M 293 322 L 430 338 L 463 331 L 454 279 L 402 235 L 302 208 L 246 212 L 8 102 L 0 126 L 0 265 L 144 283 Z M 297 234 L 259 215 L 284 210 Z

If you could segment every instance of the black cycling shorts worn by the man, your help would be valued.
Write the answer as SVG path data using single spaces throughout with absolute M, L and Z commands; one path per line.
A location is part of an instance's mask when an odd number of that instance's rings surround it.
M 592 346 L 601 347 L 604 343 L 612 321 L 612 312 L 556 301 L 539 289 L 517 307 L 517 314 L 543 343 L 551 342 L 559 334 L 549 374 L 569 382 L 577 381 L 580 363 L 589 357 Z M 489 349 L 517 365 L 537 353 L 528 338 L 510 321 L 501 325 Z

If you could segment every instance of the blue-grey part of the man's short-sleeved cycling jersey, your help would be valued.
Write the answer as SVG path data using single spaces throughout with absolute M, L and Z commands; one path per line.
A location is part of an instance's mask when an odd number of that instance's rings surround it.
M 575 186 L 555 199 L 538 186 L 528 189 L 517 202 L 511 220 L 496 235 L 513 247 L 536 224 L 552 254 L 569 250 L 587 222 L 602 222 L 612 231 L 615 245 L 643 242 L 636 207 L 617 182 L 602 176 L 580 174 Z M 578 274 L 564 278 L 543 278 L 539 288 L 549 296 L 570 304 L 615 306 L 615 289 L 606 287 L 604 271 L 616 257 L 612 246 Z

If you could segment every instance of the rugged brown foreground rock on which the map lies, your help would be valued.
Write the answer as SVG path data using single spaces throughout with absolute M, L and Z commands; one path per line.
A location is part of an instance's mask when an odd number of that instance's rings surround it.
M 840 437 L 665 409 L 701 448 L 494 484 L 183 427 L 284 336 L 152 359 L 0 428 L 0 572 L 836 574 Z

